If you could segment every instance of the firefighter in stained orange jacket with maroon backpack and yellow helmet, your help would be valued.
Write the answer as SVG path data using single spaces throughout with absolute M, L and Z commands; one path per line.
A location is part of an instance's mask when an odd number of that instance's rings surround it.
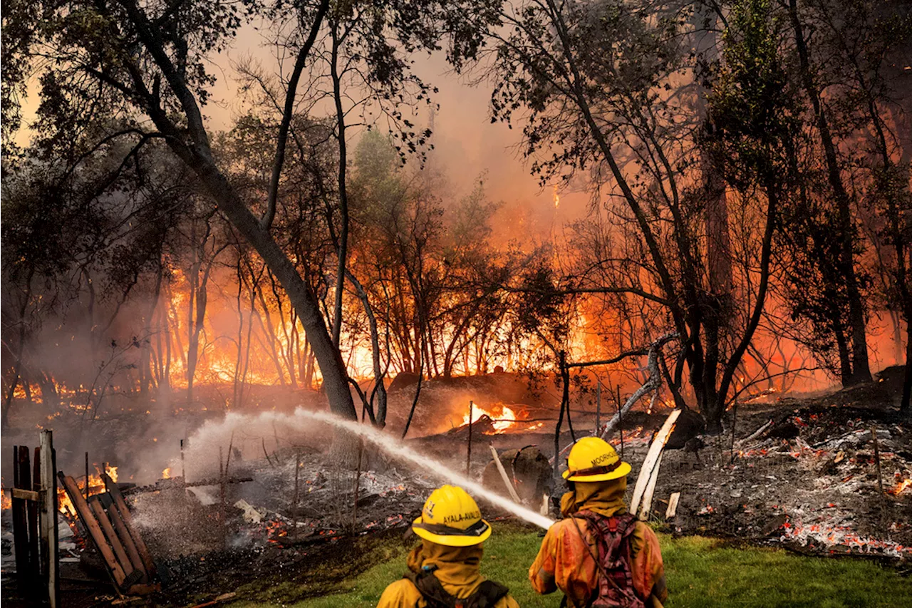
M 630 465 L 597 437 L 567 456 L 561 519 L 548 530 L 529 581 L 536 592 L 564 592 L 569 608 L 661 608 L 665 568 L 652 529 L 627 513 Z

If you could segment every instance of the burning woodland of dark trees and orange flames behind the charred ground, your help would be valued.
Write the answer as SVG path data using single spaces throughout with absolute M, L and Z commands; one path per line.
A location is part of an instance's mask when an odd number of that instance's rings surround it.
M 869 381 L 874 316 L 908 356 L 903 5 L 375 4 L 5 4 L 0 429 L 33 391 L 81 384 L 94 413 L 201 382 L 231 406 L 319 383 L 347 416 L 356 386 L 383 425 L 397 372 L 554 370 L 671 330 L 671 393 L 718 431 L 758 383 Z M 285 69 L 237 65 L 247 111 L 211 131 L 212 62 L 254 23 Z M 421 166 L 436 90 L 410 58 L 438 49 L 543 184 L 592 194 L 565 238 Z

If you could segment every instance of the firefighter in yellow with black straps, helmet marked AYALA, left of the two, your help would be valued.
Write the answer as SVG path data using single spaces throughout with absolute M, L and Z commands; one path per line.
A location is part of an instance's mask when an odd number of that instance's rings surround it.
M 464 489 L 434 490 L 411 529 L 421 544 L 409 553 L 409 572 L 387 587 L 377 608 L 519 608 L 506 587 L 482 576 L 491 526 Z

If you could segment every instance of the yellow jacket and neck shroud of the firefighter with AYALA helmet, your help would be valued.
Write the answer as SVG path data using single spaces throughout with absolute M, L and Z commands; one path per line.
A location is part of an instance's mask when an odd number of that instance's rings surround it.
M 419 572 L 422 566 L 437 566 L 434 575 L 445 592 L 458 598 L 472 595 L 485 578 L 480 570 L 482 545 L 474 547 L 444 547 L 430 540 L 411 550 L 407 564 L 409 570 Z M 387 587 L 377 608 L 426 608 L 428 604 L 421 597 L 414 583 L 400 579 Z M 519 608 L 509 594 L 501 598 L 494 608 Z

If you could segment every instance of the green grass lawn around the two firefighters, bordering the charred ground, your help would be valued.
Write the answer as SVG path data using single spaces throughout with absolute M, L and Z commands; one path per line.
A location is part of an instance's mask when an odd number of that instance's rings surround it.
M 482 571 L 510 587 L 523 608 L 556 607 L 560 593 L 536 595 L 526 581 L 541 539 L 532 531 L 501 526 L 485 543 Z M 782 550 L 734 548 L 704 538 L 659 537 L 668 575 L 668 608 L 874 608 L 912 606 L 912 585 L 895 571 L 860 560 L 799 557 Z M 378 551 L 376 548 L 374 551 Z M 336 593 L 285 603 L 292 590 L 242 588 L 234 608 L 281 605 L 294 608 L 368 608 L 405 569 L 401 543 L 377 552 L 375 566 L 354 580 L 335 585 Z M 285 595 L 287 597 L 287 595 Z

